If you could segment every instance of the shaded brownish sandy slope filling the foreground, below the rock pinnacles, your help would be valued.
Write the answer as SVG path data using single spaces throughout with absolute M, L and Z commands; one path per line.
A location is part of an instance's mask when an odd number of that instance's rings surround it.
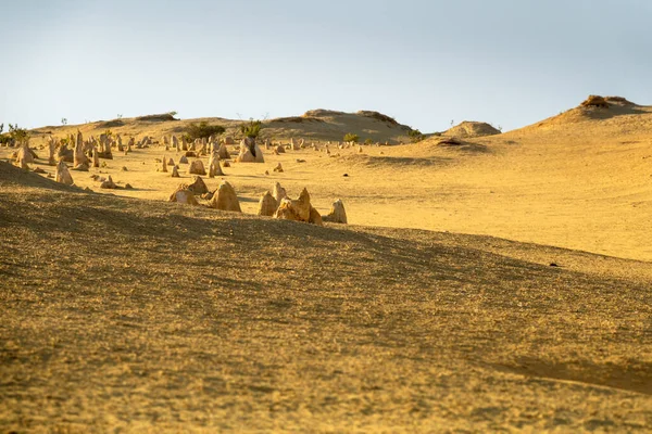
M 0 203 L 2 430 L 652 427 L 648 263 L 88 194 L 2 164 Z

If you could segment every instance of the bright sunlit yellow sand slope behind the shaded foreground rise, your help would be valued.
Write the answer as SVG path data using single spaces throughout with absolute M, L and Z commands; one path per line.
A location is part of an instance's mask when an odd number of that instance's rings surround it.
M 341 197 L 355 225 L 490 234 L 650 260 L 651 131 L 650 107 L 578 108 L 464 146 L 439 146 L 431 138 L 365 146 L 363 154 L 334 150 L 338 157 L 312 150 L 266 153 L 264 165 L 234 165 L 225 173 L 246 213 L 254 213 L 260 194 L 280 181 L 291 194 L 308 187 L 322 212 Z M 163 200 L 179 182 L 154 171 L 154 158 L 163 155 L 160 149 L 116 155 L 100 171 L 136 187 L 117 194 Z M 278 162 L 284 174 L 272 173 Z M 88 174 L 75 180 L 97 190 Z

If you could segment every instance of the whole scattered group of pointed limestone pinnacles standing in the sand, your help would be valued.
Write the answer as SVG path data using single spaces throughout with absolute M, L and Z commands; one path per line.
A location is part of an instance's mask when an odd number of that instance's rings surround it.
M 139 141 L 130 138 L 126 144 L 120 135 L 113 137 L 112 135 L 100 135 L 99 138 L 91 137 L 89 140 L 84 140 L 80 131 L 77 135 L 71 135 L 65 140 L 50 137 L 47 142 L 49 151 L 48 164 L 55 166 L 55 180 L 68 186 L 74 183 L 71 170 L 88 171 L 90 167 L 100 167 L 100 158 L 113 159 L 112 149 L 116 149 L 117 152 L 127 155 L 133 149 L 146 149 L 151 146 L 153 140 L 151 137 L 146 136 Z M 191 184 L 180 184 L 170 196 L 170 202 L 178 202 L 188 205 L 199 205 L 196 196 L 206 199 L 208 205 L 211 208 L 237 212 L 241 213 L 240 203 L 234 187 L 226 180 L 222 180 L 220 187 L 214 191 L 210 192 L 206 184 L 202 180 L 201 176 L 209 176 L 214 178 L 216 176 L 224 176 L 222 171 L 221 161 L 224 161 L 223 166 L 229 167 L 228 161 L 230 153 L 227 145 L 235 144 L 233 138 L 227 137 L 222 142 L 213 137 L 208 139 L 197 139 L 191 143 L 188 143 L 185 138 L 181 137 L 179 140 L 176 136 L 167 137 L 164 136 L 159 142 L 165 146 L 165 151 L 185 151 L 185 154 L 180 156 L 179 164 L 189 164 L 188 174 L 197 175 L 195 181 Z M 72 146 L 72 149 L 68 148 Z M 303 139 L 294 141 L 290 140 L 290 144 L 284 145 L 272 145 L 268 140 L 265 141 L 265 149 L 272 150 L 275 154 L 286 152 L 286 149 L 299 150 L 306 148 Z M 347 144 L 346 146 L 349 146 Z M 315 144 L 312 145 L 315 150 L 318 150 Z M 338 144 L 340 149 L 343 149 L 343 144 Z M 244 138 L 240 142 L 238 155 L 235 158 L 237 163 L 264 163 L 263 151 L 258 145 L 254 138 Z M 330 153 L 328 145 L 325 148 L 325 152 Z M 189 163 L 188 157 L 198 157 L 202 155 L 209 155 L 208 171 L 201 159 L 193 159 Z M 28 146 L 27 142 L 23 142 L 18 151 L 15 153 L 16 164 L 24 168 L 28 168 L 28 164 L 34 163 L 37 158 L 36 153 Z M 66 163 L 72 163 L 72 169 L 68 169 Z M 158 170 L 162 173 L 171 173 L 172 177 L 178 178 L 178 166 L 175 164 L 173 158 L 163 157 L 159 159 L 160 166 Z M 123 167 L 126 170 L 126 167 Z M 283 167 L 278 164 L 274 171 L 281 173 Z M 101 177 L 93 175 L 92 178 L 100 182 L 100 188 L 103 189 L 115 189 L 117 186 L 111 178 L 111 176 Z M 347 213 L 344 205 L 341 200 L 337 200 L 333 203 L 330 213 L 324 217 L 311 205 L 311 197 L 306 189 L 303 189 L 299 197 L 293 200 L 290 199 L 286 190 L 280 187 L 280 183 L 276 182 L 272 192 L 265 192 L 259 202 L 258 215 L 268 216 L 286 220 L 303 221 L 313 225 L 323 225 L 323 221 L 331 221 L 339 224 L 347 224 Z

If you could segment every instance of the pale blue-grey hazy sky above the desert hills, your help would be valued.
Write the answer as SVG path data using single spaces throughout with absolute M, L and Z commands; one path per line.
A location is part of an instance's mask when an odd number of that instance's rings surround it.
M 652 103 L 649 0 L 0 0 L 0 123 L 374 110 L 519 128 Z

